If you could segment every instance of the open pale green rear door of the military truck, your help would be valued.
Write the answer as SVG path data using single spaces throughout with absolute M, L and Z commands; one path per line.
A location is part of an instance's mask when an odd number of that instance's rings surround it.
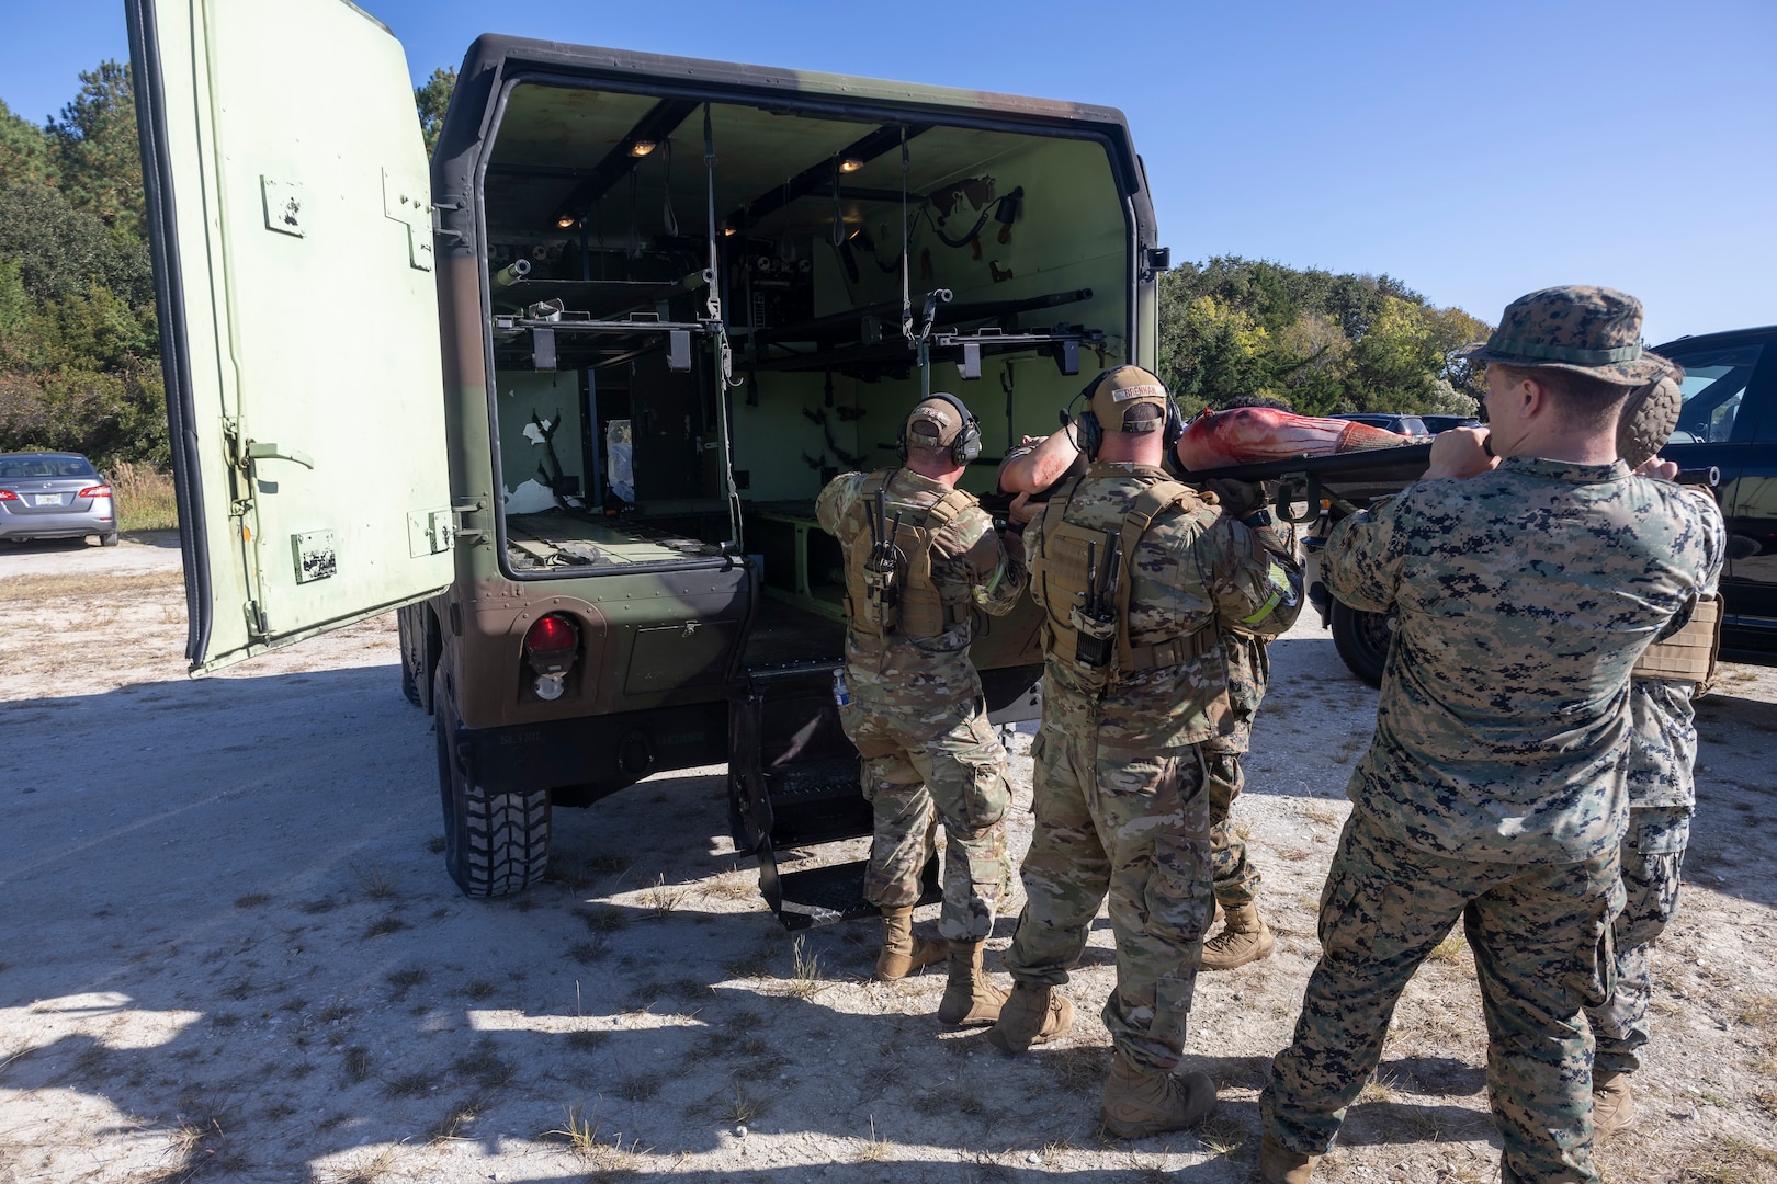
M 187 657 L 451 580 L 432 201 L 400 43 L 343 0 L 130 0 Z

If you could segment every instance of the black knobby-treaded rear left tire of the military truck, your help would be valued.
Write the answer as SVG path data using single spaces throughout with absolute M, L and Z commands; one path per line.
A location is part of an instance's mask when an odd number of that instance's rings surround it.
M 549 866 L 549 790 L 492 793 L 457 760 L 457 710 L 444 667 L 432 678 L 439 793 L 444 799 L 444 870 L 464 896 L 506 896 L 544 879 Z

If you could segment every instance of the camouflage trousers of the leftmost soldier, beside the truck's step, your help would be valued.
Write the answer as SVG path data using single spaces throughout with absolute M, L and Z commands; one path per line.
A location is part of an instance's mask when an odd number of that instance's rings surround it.
M 876 815 L 864 898 L 885 909 L 919 902 L 920 872 L 942 818 L 947 854 L 938 934 L 952 941 L 990 935 L 1011 882 L 1011 785 L 984 703 L 888 706 L 855 698 L 839 721 L 864 758 L 864 797 Z

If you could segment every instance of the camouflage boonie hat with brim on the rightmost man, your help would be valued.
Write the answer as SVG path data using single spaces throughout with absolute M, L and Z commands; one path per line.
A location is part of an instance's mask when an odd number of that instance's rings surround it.
M 1624 387 L 1658 382 L 1672 366 L 1642 350 L 1642 302 L 1612 288 L 1544 288 L 1505 305 L 1486 341 L 1457 351 L 1471 362 L 1569 369 Z

